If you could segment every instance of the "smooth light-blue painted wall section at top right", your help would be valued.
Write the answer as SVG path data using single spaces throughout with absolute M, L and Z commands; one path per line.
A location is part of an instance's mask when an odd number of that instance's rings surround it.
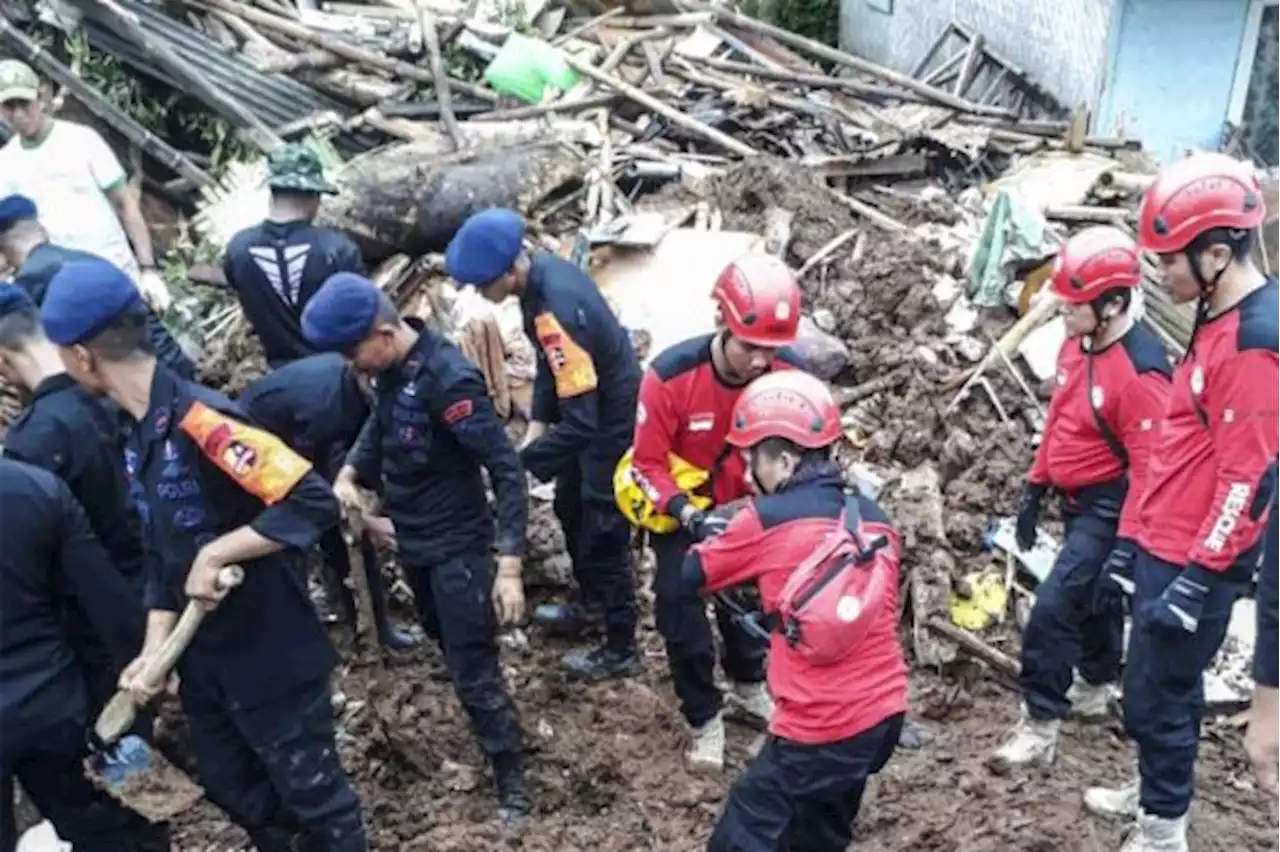
M 1120 0 L 1094 118 L 1161 162 L 1221 141 L 1248 0 Z

